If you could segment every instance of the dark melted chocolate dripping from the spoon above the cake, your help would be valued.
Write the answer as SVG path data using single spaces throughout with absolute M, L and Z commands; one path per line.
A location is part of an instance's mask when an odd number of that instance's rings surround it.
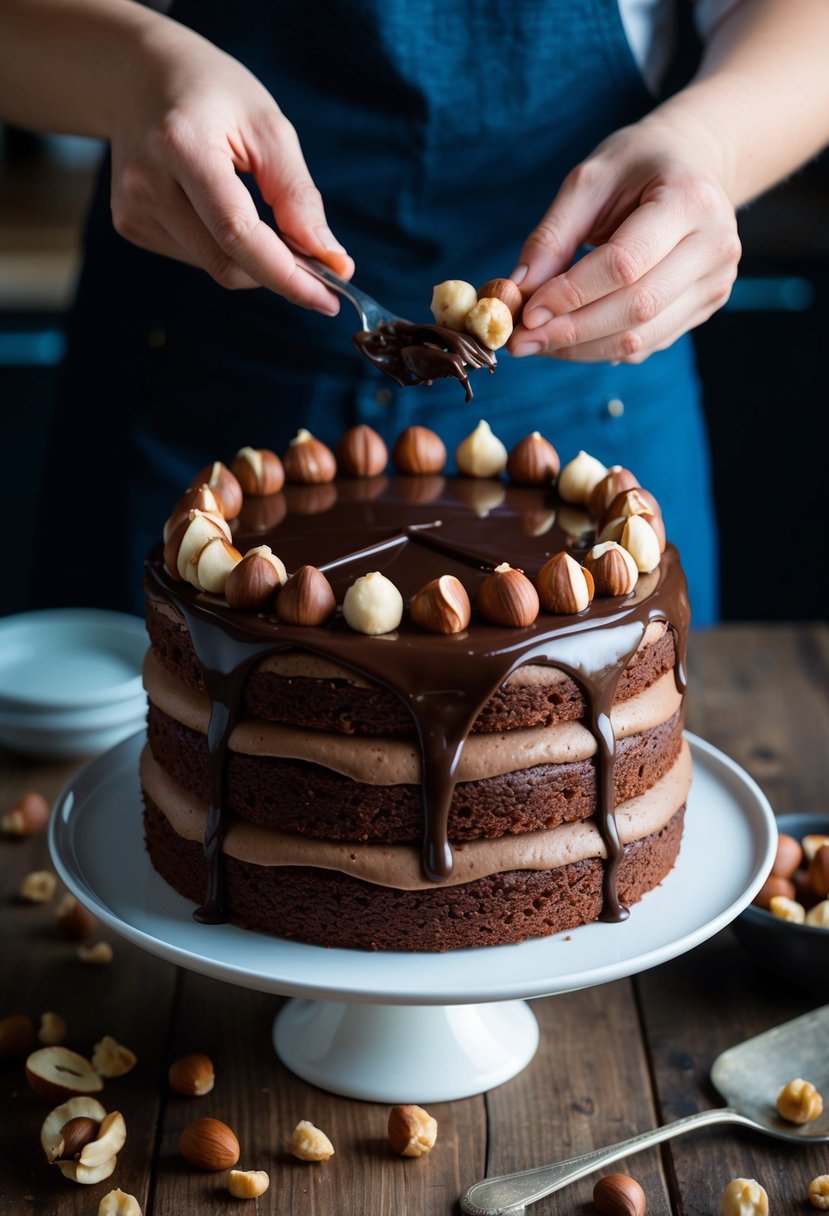
M 495 351 L 470 333 L 450 330 L 445 325 L 413 321 L 391 321 L 374 330 L 361 330 L 354 344 L 376 367 L 404 387 L 432 384 L 445 376 L 453 376 L 472 401 L 469 371 L 489 367 L 495 371 Z

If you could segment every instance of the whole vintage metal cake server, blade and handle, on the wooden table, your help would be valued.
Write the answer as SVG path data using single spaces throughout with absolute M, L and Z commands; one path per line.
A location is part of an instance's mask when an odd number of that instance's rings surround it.
M 812 1122 L 786 1122 L 777 1113 L 777 1094 L 794 1077 L 811 1081 L 828 1099 Z M 714 1062 L 711 1081 L 727 1107 L 700 1110 L 554 1165 L 481 1178 L 461 1195 L 461 1210 L 468 1216 L 520 1216 L 528 1204 L 620 1158 L 715 1124 L 739 1124 L 793 1143 L 825 1143 L 829 1141 L 829 1004 L 729 1047 Z

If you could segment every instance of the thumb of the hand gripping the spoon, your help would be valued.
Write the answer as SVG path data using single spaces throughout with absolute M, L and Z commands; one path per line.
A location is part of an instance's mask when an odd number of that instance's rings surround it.
M 322 195 L 309 173 L 293 128 L 280 141 L 273 159 L 256 171 L 263 197 L 273 209 L 277 227 L 299 250 L 323 261 L 342 278 L 354 274 L 354 261 L 328 227 Z

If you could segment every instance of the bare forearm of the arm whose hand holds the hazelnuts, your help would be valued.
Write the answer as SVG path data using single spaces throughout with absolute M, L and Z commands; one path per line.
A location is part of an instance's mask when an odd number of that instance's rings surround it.
M 829 141 L 828 66 L 827 0 L 741 0 L 694 80 L 644 123 L 699 148 L 739 207 Z

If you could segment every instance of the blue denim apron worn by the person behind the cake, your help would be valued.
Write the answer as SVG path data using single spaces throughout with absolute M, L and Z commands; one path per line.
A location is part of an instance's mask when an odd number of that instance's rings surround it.
M 287 2 L 180 0 L 171 16 L 271 90 L 298 129 L 357 282 L 412 320 L 430 319 L 441 280 L 509 274 L 566 171 L 653 105 L 615 0 L 328 0 L 314 15 Z M 636 367 L 501 353 L 494 376 L 474 375 L 467 404 L 455 381 L 399 388 L 354 350 L 355 330 L 345 302 L 332 321 L 264 289 L 224 291 L 129 246 L 111 227 L 105 171 L 64 399 L 90 424 L 106 416 L 122 445 L 120 475 L 103 501 L 113 513 L 119 503 L 120 535 L 132 537 L 124 576 L 136 610 L 140 554 L 207 461 L 244 444 L 282 451 L 300 426 L 333 444 L 355 422 L 389 441 L 419 422 L 451 452 L 486 418 L 507 447 L 538 429 L 562 462 L 585 449 L 632 468 L 681 548 L 694 624 L 715 619 L 715 525 L 690 339 Z M 125 490 L 129 506 L 120 505 Z

